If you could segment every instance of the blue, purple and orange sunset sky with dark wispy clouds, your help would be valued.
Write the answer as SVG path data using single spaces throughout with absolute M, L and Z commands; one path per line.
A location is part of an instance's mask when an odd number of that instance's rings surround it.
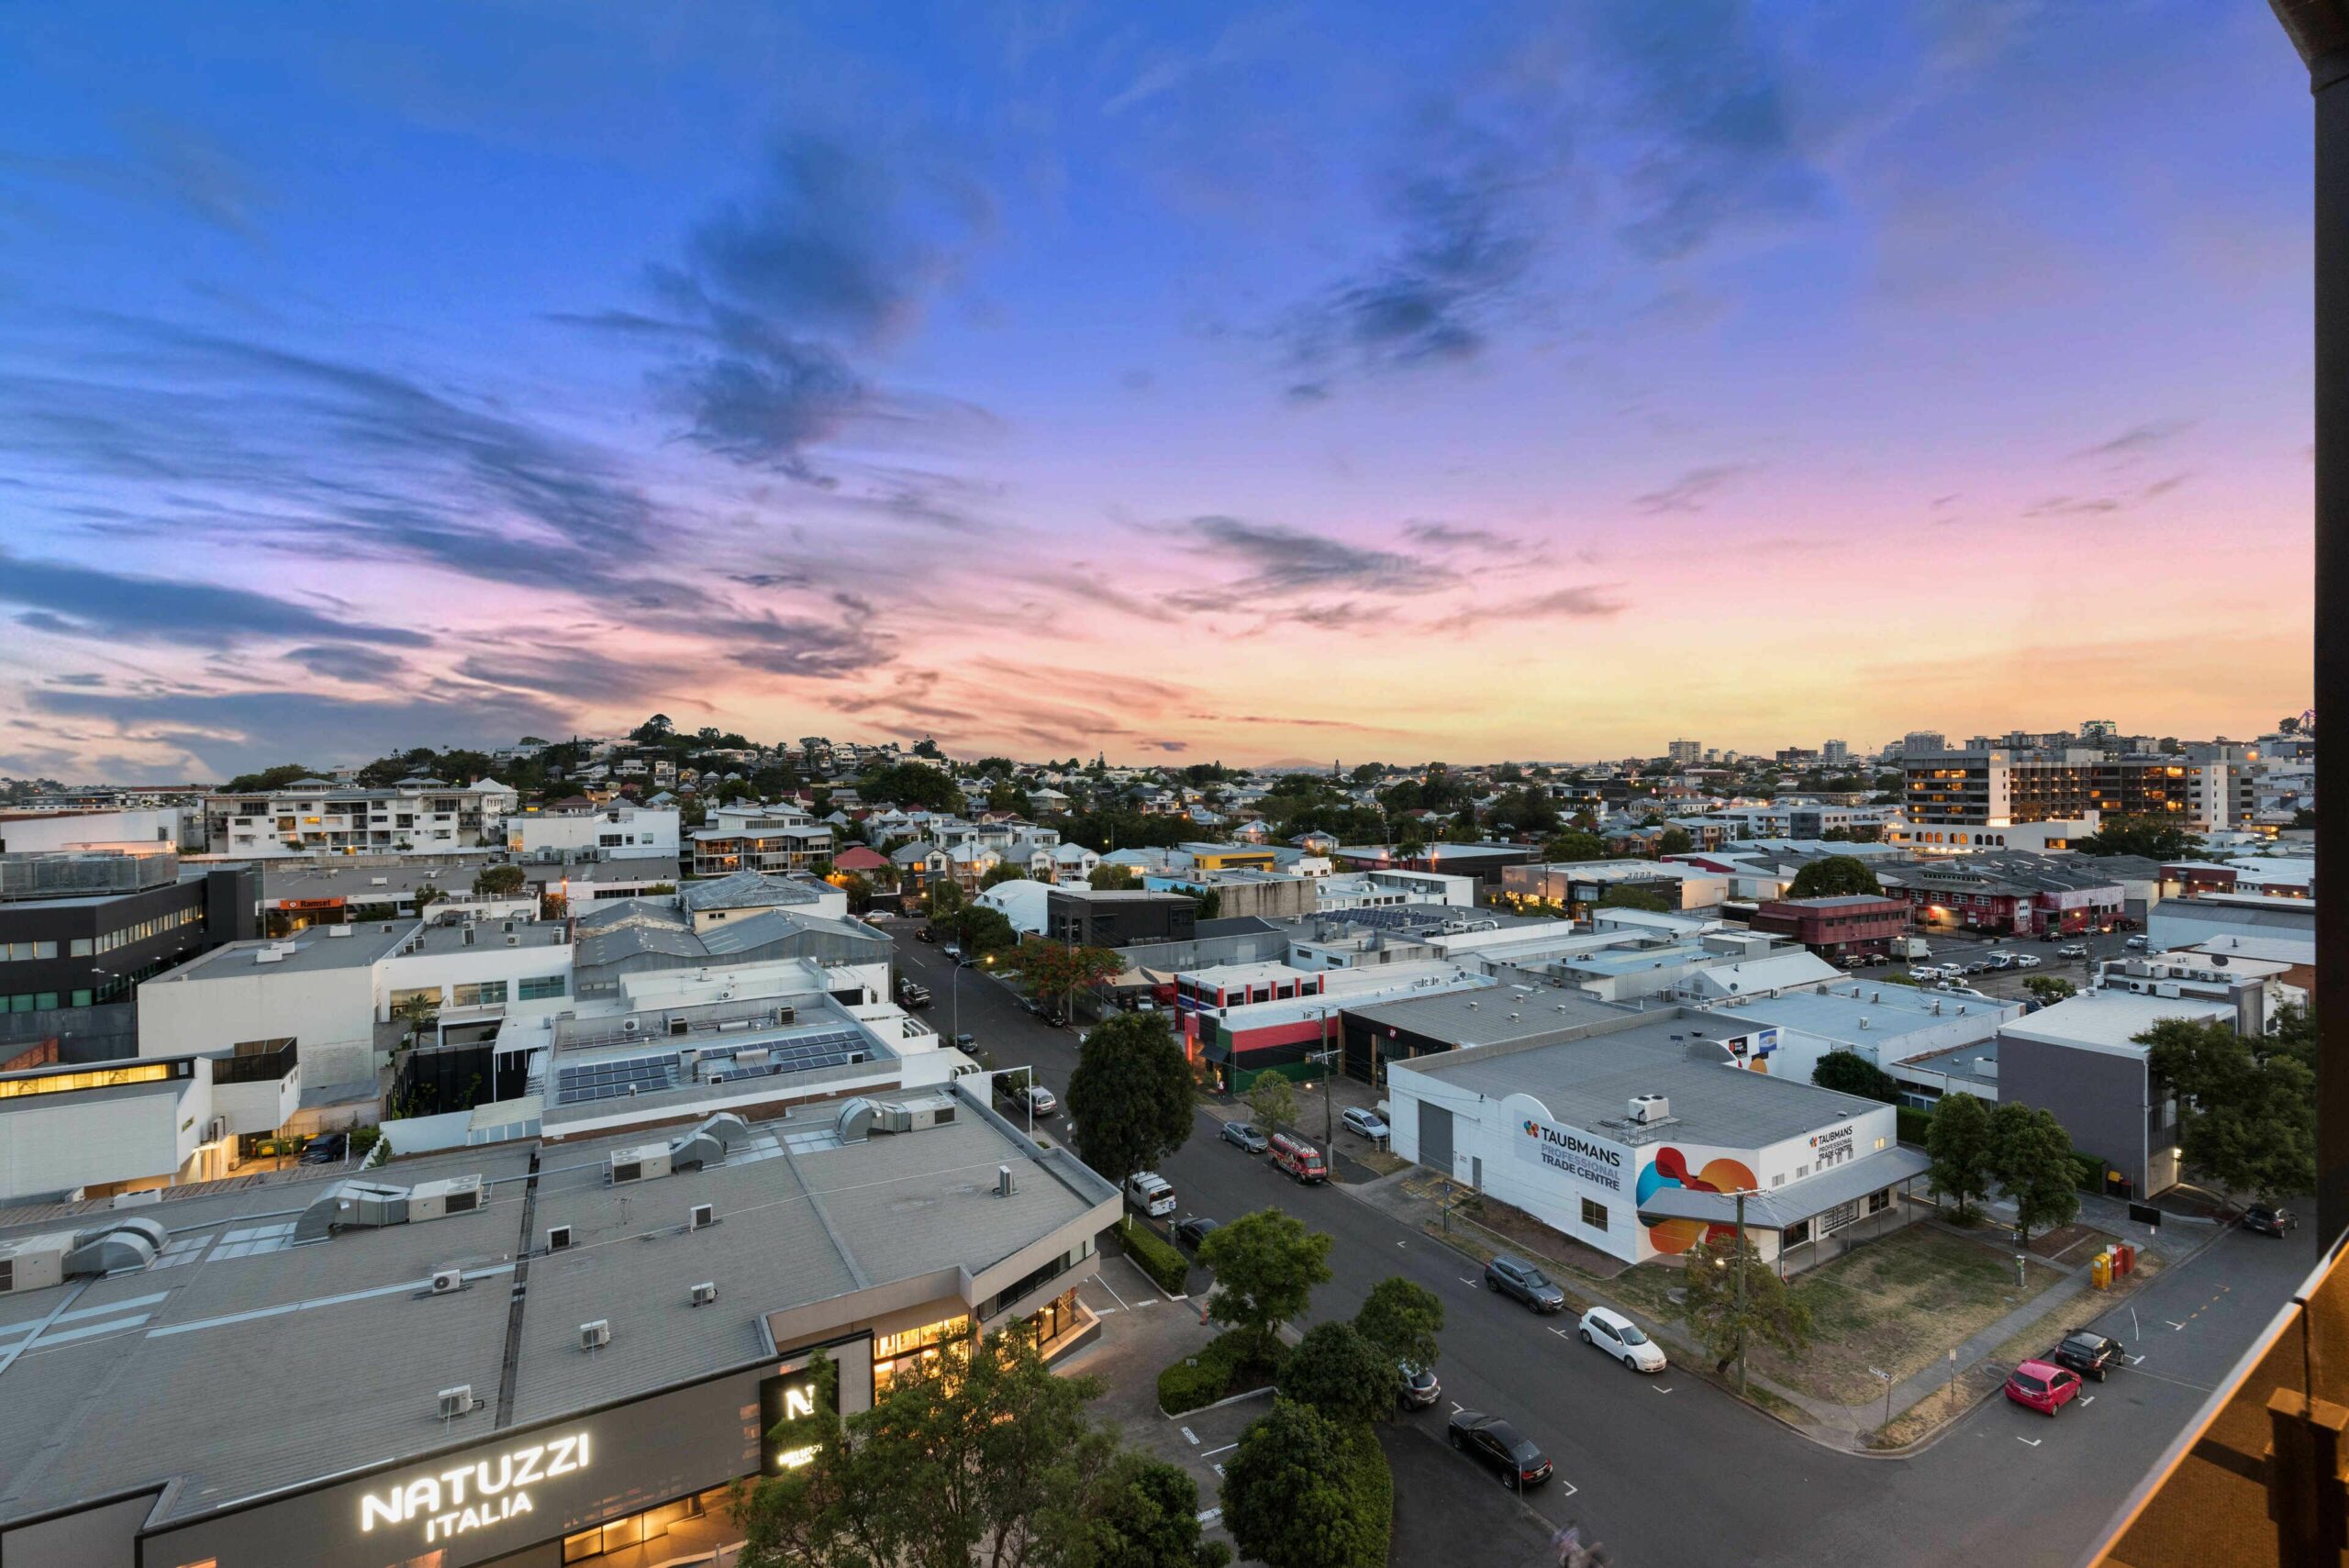
M 2309 702 L 2232 0 L 0 9 L 0 775 Z

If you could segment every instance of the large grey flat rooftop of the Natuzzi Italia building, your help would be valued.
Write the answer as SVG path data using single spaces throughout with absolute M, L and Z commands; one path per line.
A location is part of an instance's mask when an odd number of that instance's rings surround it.
M 606 1185 L 608 1153 L 653 1141 L 646 1129 L 402 1160 L 369 1181 L 477 1174 L 484 1207 L 303 1246 L 289 1244 L 294 1225 L 334 1176 L 113 1216 L 0 1214 L 0 1242 L 134 1216 L 169 1230 L 153 1268 L 0 1296 L 0 1359 L 23 1347 L 0 1368 L 0 1521 L 169 1481 L 157 1519 L 188 1519 L 397 1462 L 449 1441 L 432 1392 L 458 1383 L 484 1401 L 465 1420 L 489 1434 L 500 1406 L 519 1425 L 749 1366 L 773 1354 L 770 1312 L 977 1275 L 1116 1202 L 1069 1153 L 1038 1150 L 970 1099 L 951 1124 L 850 1145 L 836 1113 L 754 1124 L 721 1167 L 625 1188 Z M 533 1150 L 536 1235 L 524 1235 Z M 1010 1197 L 994 1192 L 998 1164 L 1017 1171 Z M 691 1204 L 714 1204 L 719 1223 L 688 1232 Z M 543 1246 L 547 1225 L 571 1225 L 573 1246 L 529 1258 L 529 1291 L 514 1296 L 517 1256 Z M 467 1289 L 432 1296 L 439 1268 L 463 1268 Z M 698 1279 L 716 1282 L 716 1307 L 691 1305 Z M 864 1314 L 843 1303 L 843 1322 Z M 578 1326 L 599 1317 L 611 1345 L 585 1354 Z M 265 1418 L 202 1420 L 190 1441 L 190 1413 L 221 1411 L 237 1390 L 268 1390 Z

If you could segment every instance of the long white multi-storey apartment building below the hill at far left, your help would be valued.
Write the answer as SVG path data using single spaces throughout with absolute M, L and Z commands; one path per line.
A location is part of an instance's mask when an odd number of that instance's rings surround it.
M 390 789 L 294 779 L 275 791 L 204 796 L 204 829 L 214 854 L 240 859 L 446 854 L 498 843 L 517 805 L 514 789 L 496 779 L 463 786 L 399 779 Z

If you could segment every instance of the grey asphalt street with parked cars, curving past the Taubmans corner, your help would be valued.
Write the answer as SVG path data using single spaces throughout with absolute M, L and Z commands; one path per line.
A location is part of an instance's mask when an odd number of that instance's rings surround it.
M 911 939 L 911 922 L 893 930 L 904 972 L 930 986 L 930 1016 L 944 1028 L 951 965 Z M 1071 1030 L 1045 1028 L 977 972 L 961 976 L 961 1019 L 998 1063 L 1034 1063 L 1048 1087 L 1066 1089 Z M 1421 1554 L 1473 1540 L 1480 1561 L 1532 1568 L 1555 1561 L 1541 1549 L 1548 1526 L 1576 1519 L 1623 1568 L 2067 1566 L 2316 1263 L 2309 1232 L 2283 1242 L 2229 1232 L 2138 1291 L 2135 1322 L 2128 1307 L 2088 1319 L 2145 1357 L 2093 1387 L 2093 1404 L 2048 1420 L 1990 1401 L 1917 1458 L 1858 1458 L 1820 1448 L 1696 1378 L 1640 1378 L 1616 1366 L 1574 1338 L 1571 1319 L 1541 1319 L 1485 1293 L 1463 1256 L 1341 1188 L 1290 1183 L 1261 1157 L 1217 1141 L 1214 1124 L 1203 1110 L 1191 1143 L 1163 1164 L 1182 1211 L 1233 1218 L 1280 1207 L 1337 1237 L 1315 1319 L 1351 1314 L 1388 1275 L 1445 1300 L 1445 1399 L 1388 1434 L 1391 1453 L 1402 1455 L 1395 1561 L 1416 1561 L 1405 1552 L 1414 1540 L 1426 1542 Z M 1442 1451 L 1454 1404 L 1506 1415 L 1548 1448 L 1557 1483 L 1527 1500 L 1539 1521 Z

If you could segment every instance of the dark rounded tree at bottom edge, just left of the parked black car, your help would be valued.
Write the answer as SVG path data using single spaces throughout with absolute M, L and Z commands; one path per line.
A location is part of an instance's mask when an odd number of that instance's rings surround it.
M 1346 1488 L 1346 1430 L 1294 1399 L 1273 1399 L 1224 1462 L 1224 1523 L 1266 1568 L 1358 1568 L 1384 1526 Z

